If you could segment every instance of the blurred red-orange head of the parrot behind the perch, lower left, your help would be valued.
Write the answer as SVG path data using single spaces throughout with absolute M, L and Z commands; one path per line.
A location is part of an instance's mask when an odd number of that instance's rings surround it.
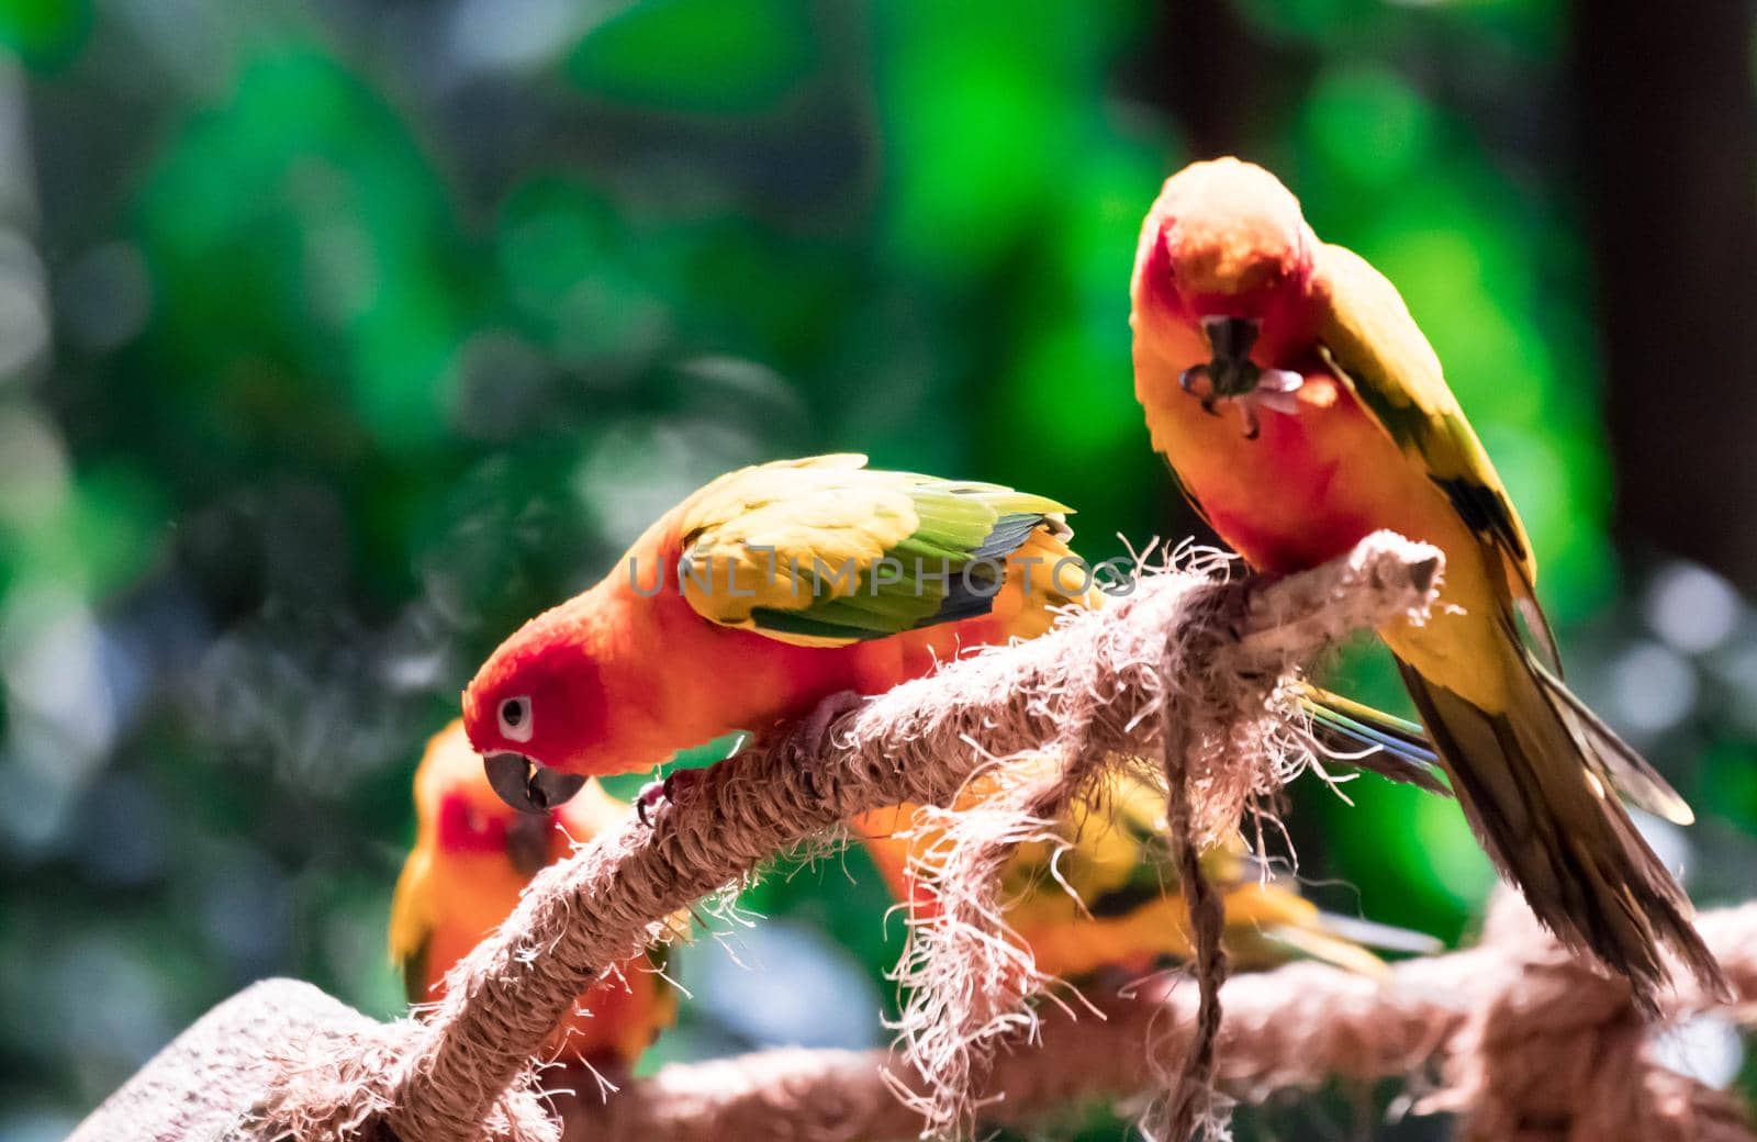
M 568 847 L 555 812 L 518 812 L 495 796 L 459 722 L 429 741 L 415 771 L 415 806 L 446 857 L 508 861 L 531 877 Z

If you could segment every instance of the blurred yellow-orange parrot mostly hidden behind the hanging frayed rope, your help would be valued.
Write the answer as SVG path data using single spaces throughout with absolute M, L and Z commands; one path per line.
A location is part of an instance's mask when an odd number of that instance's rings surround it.
M 991 789 L 973 782 L 959 805 L 973 805 Z M 912 805 L 877 810 L 850 828 L 893 894 L 919 917 L 935 907 L 940 835 L 915 813 Z M 1081 982 L 1100 972 L 1139 977 L 1193 959 L 1189 907 L 1179 896 L 1177 861 L 1165 842 L 1163 789 L 1114 770 L 1074 803 L 1058 833 L 1068 845 L 1059 857 L 1061 845 L 1051 842 L 1019 845 L 1000 882 L 1007 924 L 1040 972 Z M 1223 894 L 1221 945 L 1242 968 L 1307 956 L 1379 975 L 1385 965 L 1363 943 L 1400 952 L 1441 947 L 1420 933 L 1320 912 L 1293 884 L 1265 875 L 1237 836 L 1209 849 L 1202 870 Z

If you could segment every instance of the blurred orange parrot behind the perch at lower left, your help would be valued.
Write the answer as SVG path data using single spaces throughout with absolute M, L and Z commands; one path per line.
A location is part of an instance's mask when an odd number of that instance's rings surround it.
M 415 771 L 415 849 L 390 901 L 390 956 L 411 1003 L 445 994 L 445 973 L 494 931 L 545 864 L 618 824 L 629 806 L 596 782 L 559 810 L 524 813 L 488 787 L 481 759 L 453 720 L 427 743 Z M 555 1031 L 559 1058 L 627 1070 L 676 1019 L 662 949 L 592 987 Z

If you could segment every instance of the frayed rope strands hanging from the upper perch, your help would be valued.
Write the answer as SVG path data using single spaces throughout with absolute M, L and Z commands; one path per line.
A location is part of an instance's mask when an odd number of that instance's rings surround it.
M 1128 766 L 1168 792 L 1168 850 L 1189 903 L 1200 994 L 1191 1049 L 1140 1126 L 1149 1138 L 1186 1138 L 1198 1128 L 1225 1137 L 1225 1109 L 1212 1098 L 1225 915 L 1200 854 L 1233 836 L 1247 812 L 1267 812 L 1283 785 L 1316 761 L 1286 685 L 1314 647 L 1269 654 L 1254 647 L 1244 631 L 1262 618 L 1253 611 L 1253 592 L 1262 587 L 1216 583 L 1228 569 L 1219 552 L 1193 548 L 1151 573 L 1181 576 L 1189 589 L 1121 604 L 1158 608 L 1151 620 L 1070 615 L 1059 631 L 1070 666 L 1014 690 L 1042 712 L 1054 736 L 1010 755 L 984 754 L 980 791 L 966 789 L 956 808 L 917 812 L 914 875 L 931 884 L 933 907 L 912 917 L 893 979 L 905 996 L 894 1024 L 903 1059 L 922 1079 L 900 1081 L 896 1093 L 928 1123 L 926 1133 L 968 1135 L 984 1110 L 972 1089 L 991 1068 L 996 1045 L 1031 1042 L 1033 1001 L 1059 1003 L 1066 994 L 1009 931 L 1001 870 L 1026 843 L 1066 850 L 1059 822 L 1107 768 Z M 1056 764 L 1045 766 L 1045 757 Z

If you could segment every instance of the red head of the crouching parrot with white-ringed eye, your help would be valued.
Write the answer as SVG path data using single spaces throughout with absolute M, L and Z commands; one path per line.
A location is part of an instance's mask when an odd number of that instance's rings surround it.
M 615 726 L 585 632 L 562 610 L 527 622 L 464 689 L 464 727 L 508 805 L 562 805 L 587 773 L 615 773 Z M 587 640 L 589 641 L 589 640 Z

